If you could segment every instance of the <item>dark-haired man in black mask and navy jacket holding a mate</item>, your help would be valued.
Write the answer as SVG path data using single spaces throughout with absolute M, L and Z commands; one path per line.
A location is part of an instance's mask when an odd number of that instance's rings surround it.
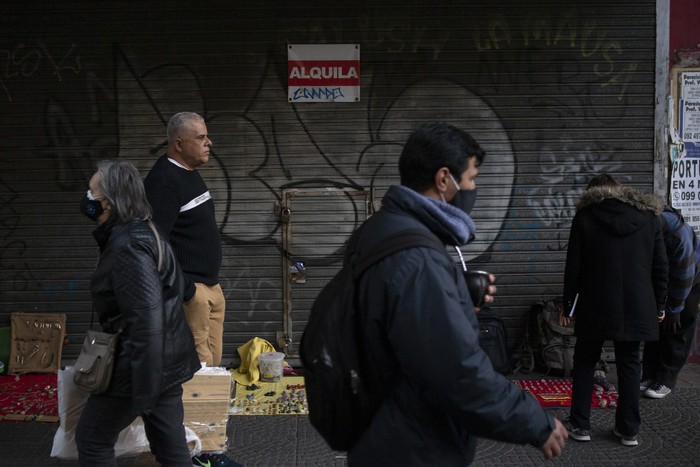
M 482 159 L 464 131 L 443 123 L 420 127 L 399 160 L 401 185 L 387 191 L 366 222 L 359 251 L 416 228 L 456 249 L 472 240 L 474 223 L 455 206 L 468 201 Z M 529 443 L 546 458 L 561 452 L 567 436 L 561 422 L 496 373 L 479 347 L 463 267 L 444 252 L 416 247 L 361 277 L 364 367 L 384 397 L 348 453 L 350 465 L 465 466 L 477 436 Z

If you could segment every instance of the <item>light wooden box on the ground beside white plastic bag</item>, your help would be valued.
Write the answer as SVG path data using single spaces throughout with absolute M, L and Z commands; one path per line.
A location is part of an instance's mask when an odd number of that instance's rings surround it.
M 182 385 L 185 426 L 202 441 L 202 451 L 227 450 L 231 384 L 231 373 L 225 368 L 206 368 Z

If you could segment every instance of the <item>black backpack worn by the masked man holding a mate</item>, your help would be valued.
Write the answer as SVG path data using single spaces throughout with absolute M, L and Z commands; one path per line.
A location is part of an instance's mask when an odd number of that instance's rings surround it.
M 429 247 L 447 255 L 445 245 L 421 229 L 401 231 L 366 253 L 358 253 L 355 248 L 361 229 L 350 238 L 343 267 L 316 297 L 299 347 L 309 420 L 337 451 L 355 445 L 388 391 L 378 382 L 363 380 L 356 281 L 371 265 L 400 250 Z

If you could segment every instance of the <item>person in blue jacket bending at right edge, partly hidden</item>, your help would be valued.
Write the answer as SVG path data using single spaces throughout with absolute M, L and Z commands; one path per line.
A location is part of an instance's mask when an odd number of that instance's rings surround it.
M 683 215 L 670 206 L 661 213 L 668 255 L 668 300 L 659 340 L 644 344 L 642 382 L 646 397 L 663 399 L 676 386 L 695 336 L 700 306 L 700 242 Z

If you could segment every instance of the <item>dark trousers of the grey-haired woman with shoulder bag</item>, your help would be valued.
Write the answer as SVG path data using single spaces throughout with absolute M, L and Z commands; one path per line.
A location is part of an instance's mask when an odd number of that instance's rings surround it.
M 119 433 L 136 419 L 131 399 L 104 395 L 90 396 L 75 433 L 80 465 L 114 467 L 114 444 Z M 182 386 L 163 392 L 158 405 L 142 415 L 151 452 L 161 465 L 192 466 L 182 424 Z

